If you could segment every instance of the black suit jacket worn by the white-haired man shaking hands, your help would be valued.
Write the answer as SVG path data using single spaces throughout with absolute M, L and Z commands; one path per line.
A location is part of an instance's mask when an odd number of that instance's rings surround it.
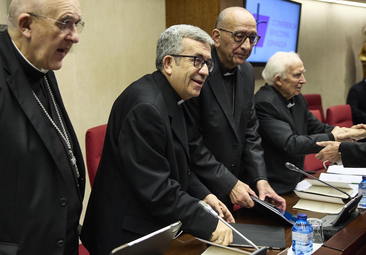
M 285 168 L 286 162 L 303 170 L 305 155 L 317 153 L 322 148 L 315 142 L 334 141 L 333 135 L 329 134 L 334 127 L 320 122 L 307 109 L 303 95 L 293 99 L 295 105 L 290 111 L 288 101 L 268 84 L 255 94 L 268 181 L 279 195 L 291 192 L 302 176 Z

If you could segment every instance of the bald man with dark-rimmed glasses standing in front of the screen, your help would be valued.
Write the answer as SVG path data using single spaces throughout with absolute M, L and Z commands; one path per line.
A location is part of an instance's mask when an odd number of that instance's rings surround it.
M 253 207 L 249 195 L 257 196 L 249 184 L 256 186 L 260 199 L 268 197 L 285 209 L 285 200 L 267 181 L 254 109 L 254 71 L 246 61 L 259 40 L 255 19 L 242 7 L 224 9 L 212 37 L 214 69 L 200 95 L 185 106 L 197 122 L 205 146 L 236 178 L 230 193 L 220 199 L 231 209 L 233 204 Z M 210 182 L 202 182 L 212 187 Z

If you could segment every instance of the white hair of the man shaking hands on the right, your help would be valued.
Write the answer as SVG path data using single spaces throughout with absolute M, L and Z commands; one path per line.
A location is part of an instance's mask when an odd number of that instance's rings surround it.
M 275 77 L 279 75 L 284 79 L 288 74 L 288 67 L 294 65 L 296 61 L 301 60 L 299 54 L 295 52 L 276 52 L 269 58 L 262 77 L 269 85 L 275 84 Z

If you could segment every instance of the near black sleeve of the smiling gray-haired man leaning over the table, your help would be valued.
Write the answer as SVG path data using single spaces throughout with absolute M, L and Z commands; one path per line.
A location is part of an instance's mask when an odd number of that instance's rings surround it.
M 138 104 L 128 113 L 118 145 L 126 178 L 150 214 L 166 222 L 178 219 L 191 235 L 208 240 L 217 219 L 208 217 L 199 208 L 198 199 L 169 178 L 172 162 L 165 158 L 168 128 L 152 104 Z

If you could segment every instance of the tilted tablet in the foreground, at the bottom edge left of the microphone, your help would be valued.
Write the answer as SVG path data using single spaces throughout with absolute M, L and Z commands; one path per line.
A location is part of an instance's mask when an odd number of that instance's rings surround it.
M 149 235 L 143 236 L 130 243 L 119 246 L 109 255 L 135 255 L 135 254 L 153 254 L 163 255 L 169 244 L 172 242 L 175 234 L 182 223 L 177 221 L 165 228 L 159 229 Z

